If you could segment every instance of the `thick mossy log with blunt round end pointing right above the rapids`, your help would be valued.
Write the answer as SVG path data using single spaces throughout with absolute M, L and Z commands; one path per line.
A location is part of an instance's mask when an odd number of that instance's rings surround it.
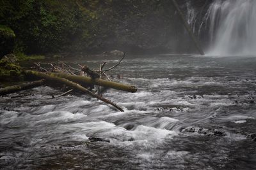
M 125 85 L 122 83 L 117 83 L 114 81 L 102 80 L 100 78 L 89 78 L 86 76 L 74 76 L 65 73 L 49 73 L 52 76 L 58 76 L 61 78 L 66 78 L 67 80 L 74 81 L 79 84 L 87 83 L 88 85 L 100 85 L 101 87 L 108 87 L 116 90 L 122 90 L 125 92 L 136 92 L 137 88 L 132 85 Z

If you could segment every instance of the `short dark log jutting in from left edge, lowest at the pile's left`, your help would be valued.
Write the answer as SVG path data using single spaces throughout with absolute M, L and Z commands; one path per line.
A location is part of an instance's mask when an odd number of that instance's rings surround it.
M 23 85 L 13 85 L 9 87 L 5 87 L 3 89 L 0 89 L 0 96 L 6 95 L 6 94 L 12 94 L 15 92 L 19 92 L 21 90 L 27 90 L 27 89 L 33 89 L 35 87 L 40 87 L 43 85 L 44 80 L 38 80 L 38 81 L 32 81 Z

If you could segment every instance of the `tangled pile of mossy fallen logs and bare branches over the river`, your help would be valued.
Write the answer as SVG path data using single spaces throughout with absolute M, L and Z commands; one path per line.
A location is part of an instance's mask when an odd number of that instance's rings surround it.
M 123 53 L 123 52 L 122 52 Z M 93 70 L 90 69 L 88 66 L 81 66 L 79 69 L 76 69 L 75 67 L 68 66 L 64 62 L 61 62 L 61 65 L 55 64 L 55 63 L 48 63 L 51 67 L 42 67 L 40 62 L 35 62 L 35 66 L 33 67 L 20 67 L 19 63 L 12 64 L 10 61 L 6 60 L 3 62 L 4 68 L 6 65 L 10 65 L 12 67 L 6 67 L 8 68 L 6 71 L 9 71 L 9 69 L 13 69 L 13 67 L 19 67 L 19 74 L 15 74 L 15 78 L 26 78 L 27 80 L 38 80 L 33 81 L 31 83 L 26 83 L 24 85 L 15 85 L 12 87 L 5 87 L 3 89 L 0 89 L 0 96 L 11 94 L 13 92 L 19 92 L 20 90 L 26 90 L 26 89 L 32 89 L 34 87 L 39 87 L 40 85 L 48 85 L 57 89 L 66 90 L 63 94 L 59 96 L 51 95 L 52 98 L 55 97 L 61 97 L 65 96 L 69 93 L 77 94 L 76 92 L 82 92 L 83 94 L 88 94 L 91 97 L 95 97 L 99 99 L 100 101 L 103 101 L 104 103 L 110 104 L 111 106 L 114 106 L 119 111 L 124 111 L 120 106 L 117 104 L 109 101 L 108 99 L 105 99 L 102 97 L 102 94 L 108 90 L 108 89 L 116 89 L 116 90 L 122 90 L 125 92 L 136 92 L 137 88 L 132 85 L 127 85 L 123 83 L 118 83 L 115 81 L 112 81 L 113 76 L 108 76 L 106 74 L 107 71 L 115 68 L 118 66 L 122 60 L 125 57 L 125 53 L 123 53 L 122 59 L 119 60 L 117 64 L 115 64 L 112 67 L 109 67 L 108 69 L 103 69 L 103 67 L 106 65 L 106 62 L 103 62 L 103 64 L 100 64 L 99 70 Z M 16 65 L 17 64 L 17 65 Z M 9 66 L 8 65 L 8 66 Z M 45 63 L 44 63 L 45 66 Z M 122 77 L 121 75 L 117 75 L 117 78 L 120 79 Z M 104 78 L 108 78 L 108 80 L 104 80 Z M 40 79 L 40 80 L 39 80 Z M 23 80 L 23 79 L 22 79 Z M 15 80 L 13 80 L 15 81 Z M 95 85 L 97 86 L 97 89 L 95 89 Z M 102 87 L 102 88 L 101 88 Z M 67 89 L 70 89 L 67 91 Z M 22 97 L 22 96 L 18 96 Z

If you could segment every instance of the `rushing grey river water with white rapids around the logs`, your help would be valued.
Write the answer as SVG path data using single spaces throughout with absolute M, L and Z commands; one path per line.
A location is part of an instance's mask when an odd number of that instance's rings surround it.
M 104 94 L 124 113 L 83 95 L 52 99 L 61 92 L 49 87 L 1 97 L 0 167 L 256 169 L 255 65 L 256 57 L 127 56 L 111 74 L 138 92 Z

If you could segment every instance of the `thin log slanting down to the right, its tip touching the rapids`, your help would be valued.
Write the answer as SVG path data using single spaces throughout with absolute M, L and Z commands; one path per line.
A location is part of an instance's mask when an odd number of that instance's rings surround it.
M 60 78 L 56 75 L 52 74 L 45 74 L 45 73 L 40 73 L 38 71 L 24 71 L 25 74 L 29 75 L 29 76 L 37 76 L 38 78 L 44 78 L 45 80 L 49 81 L 49 82 L 54 82 L 54 83 L 61 83 L 61 84 L 65 84 L 68 87 L 72 87 L 73 89 L 79 90 L 81 92 L 84 92 L 85 94 L 88 94 L 92 97 L 95 97 L 97 99 L 99 99 L 100 101 L 103 101 L 104 103 L 108 103 L 111 106 L 114 106 L 116 109 L 124 112 L 124 110 L 122 110 L 122 108 L 120 108 L 119 106 L 117 106 L 115 103 L 112 103 L 111 101 L 109 101 L 108 99 L 105 99 L 104 97 L 100 97 L 97 94 L 93 94 L 90 90 L 85 89 L 83 86 L 74 83 L 73 81 L 67 80 L 66 78 Z

